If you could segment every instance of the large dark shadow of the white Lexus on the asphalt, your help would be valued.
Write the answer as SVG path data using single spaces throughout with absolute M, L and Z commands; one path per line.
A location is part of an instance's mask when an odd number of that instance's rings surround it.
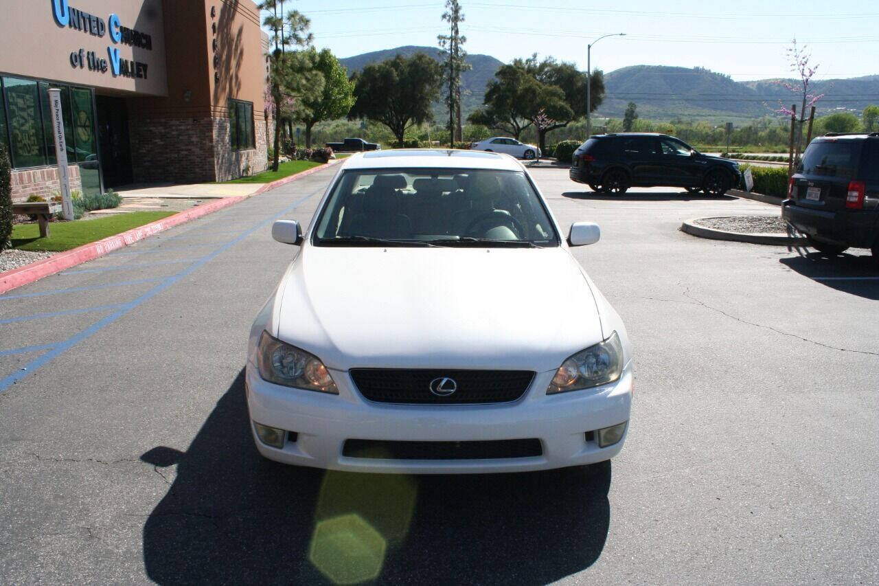
M 611 466 L 479 475 L 279 465 L 253 446 L 243 370 L 143 527 L 155 582 L 553 582 L 588 568 L 610 524 Z M 163 474 L 164 475 L 164 474 Z

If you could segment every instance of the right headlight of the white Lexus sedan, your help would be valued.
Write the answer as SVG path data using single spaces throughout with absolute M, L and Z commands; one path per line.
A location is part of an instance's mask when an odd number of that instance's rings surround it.
M 547 387 L 547 394 L 578 391 L 593 386 L 613 383 L 622 374 L 622 344 L 620 336 L 612 333 L 599 342 L 570 356 L 556 370 Z

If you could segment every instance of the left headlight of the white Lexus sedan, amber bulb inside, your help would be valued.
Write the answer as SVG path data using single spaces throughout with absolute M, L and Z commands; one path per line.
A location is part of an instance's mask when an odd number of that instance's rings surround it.
M 330 370 L 316 355 L 285 344 L 263 332 L 257 348 L 259 376 L 275 385 L 338 395 Z

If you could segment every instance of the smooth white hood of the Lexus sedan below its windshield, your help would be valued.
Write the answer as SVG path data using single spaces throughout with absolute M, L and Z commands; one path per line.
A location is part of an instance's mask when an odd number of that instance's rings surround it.
M 555 370 L 601 341 L 567 249 L 303 246 L 272 333 L 330 368 Z

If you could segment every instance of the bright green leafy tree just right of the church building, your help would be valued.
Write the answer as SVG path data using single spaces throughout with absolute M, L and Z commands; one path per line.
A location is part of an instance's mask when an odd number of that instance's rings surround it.
M 320 53 L 310 48 L 312 71 L 323 77 L 323 91 L 299 100 L 294 118 L 305 125 L 305 147 L 311 148 L 311 128 L 325 120 L 336 120 L 346 116 L 354 105 L 354 84 L 348 79 L 345 67 L 331 53 L 323 49 Z

